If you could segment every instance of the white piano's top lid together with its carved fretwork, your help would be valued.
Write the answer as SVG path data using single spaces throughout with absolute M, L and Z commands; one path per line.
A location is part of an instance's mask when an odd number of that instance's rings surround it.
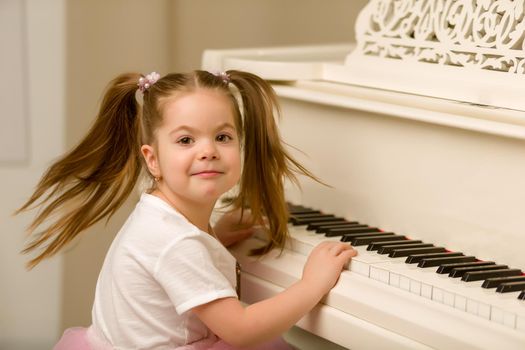
M 206 51 L 205 69 L 323 80 L 525 111 L 524 1 L 370 0 L 353 45 Z

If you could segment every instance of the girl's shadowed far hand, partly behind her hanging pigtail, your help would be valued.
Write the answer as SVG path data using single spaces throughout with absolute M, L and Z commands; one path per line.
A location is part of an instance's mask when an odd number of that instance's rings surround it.
M 228 247 L 253 234 L 252 221 L 249 210 L 245 209 L 241 217 L 241 210 L 237 209 L 225 213 L 215 224 L 214 231 L 221 243 Z

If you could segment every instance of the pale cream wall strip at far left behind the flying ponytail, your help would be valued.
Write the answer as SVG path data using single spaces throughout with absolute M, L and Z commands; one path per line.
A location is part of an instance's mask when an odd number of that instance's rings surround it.
M 62 258 L 26 271 L 27 256 L 19 252 L 32 215 L 11 214 L 64 149 L 64 7 L 65 0 L 28 0 L 22 7 L 26 76 L 19 78 L 26 83 L 29 142 L 26 161 L 0 164 L 0 349 L 49 349 L 60 329 Z

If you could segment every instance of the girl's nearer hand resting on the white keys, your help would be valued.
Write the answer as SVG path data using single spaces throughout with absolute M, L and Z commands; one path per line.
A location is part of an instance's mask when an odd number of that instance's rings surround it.
M 336 284 L 345 264 L 356 255 L 357 251 L 348 243 L 322 242 L 310 253 L 302 281 L 325 295 Z

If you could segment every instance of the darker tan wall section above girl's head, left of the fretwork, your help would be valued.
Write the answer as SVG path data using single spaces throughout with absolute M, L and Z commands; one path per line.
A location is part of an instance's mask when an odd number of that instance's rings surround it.
M 205 49 L 341 43 L 354 40 L 366 0 L 174 0 L 174 70 L 199 68 Z

